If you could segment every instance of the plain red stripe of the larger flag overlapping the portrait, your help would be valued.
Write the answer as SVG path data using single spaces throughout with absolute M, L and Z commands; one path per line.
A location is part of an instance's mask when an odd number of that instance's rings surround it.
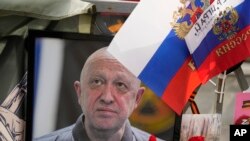
M 197 71 L 189 66 L 190 61 L 191 56 L 183 63 L 162 95 L 162 100 L 179 115 L 193 91 L 201 84 Z

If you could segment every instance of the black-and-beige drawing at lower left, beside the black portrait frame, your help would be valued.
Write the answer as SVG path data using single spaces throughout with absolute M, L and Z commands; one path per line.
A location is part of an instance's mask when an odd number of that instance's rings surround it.
M 24 110 L 24 98 L 27 94 L 27 74 L 11 91 L 0 106 L 0 140 L 25 140 L 25 119 L 19 115 Z

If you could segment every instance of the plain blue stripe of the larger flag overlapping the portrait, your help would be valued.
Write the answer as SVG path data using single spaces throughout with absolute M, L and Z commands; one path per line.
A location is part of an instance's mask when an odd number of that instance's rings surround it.
M 139 79 L 161 96 L 188 56 L 190 53 L 185 41 L 172 30 L 140 73 Z

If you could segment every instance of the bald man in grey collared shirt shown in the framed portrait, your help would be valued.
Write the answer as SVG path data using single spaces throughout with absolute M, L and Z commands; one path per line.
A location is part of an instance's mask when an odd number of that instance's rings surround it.
M 142 98 L 144 87 L 140 84 L 106 47 L 97 50 L 85 62 L 80 80 L 74 82 L 83 114 L 75 124 L 35 140 L 161 140 L 131 126 L 128 120 Z

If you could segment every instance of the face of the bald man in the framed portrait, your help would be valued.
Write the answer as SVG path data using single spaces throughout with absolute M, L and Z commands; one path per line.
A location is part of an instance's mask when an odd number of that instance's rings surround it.
M 78 94 L 85 124 L 97 129 L 120 128 L 139 102 L 138 84 L 117 61 L 92 60 L 83 73 Z

